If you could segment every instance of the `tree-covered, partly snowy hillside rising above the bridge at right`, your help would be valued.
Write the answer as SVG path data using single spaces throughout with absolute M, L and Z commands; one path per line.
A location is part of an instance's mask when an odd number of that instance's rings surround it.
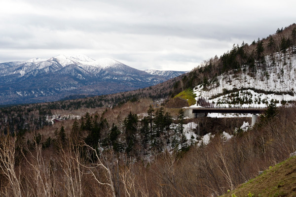
M 295 46 L 293 24 L 250 45 L 233 45 L 220 58 L 193 69 L 174 89 L 192 88 L 196 100 L 205 99 L 218 107 L 264 107 L 271 99 L 279 105 L 294 102 Z

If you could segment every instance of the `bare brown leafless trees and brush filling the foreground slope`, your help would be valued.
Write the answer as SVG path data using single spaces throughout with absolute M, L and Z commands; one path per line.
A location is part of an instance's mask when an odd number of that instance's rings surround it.
M 1 134 L 0 192 L 7 197 L 219 196 L 296 150 L 295 115 L 295 107 L 281 108 L 272 121 L 228 141 L 217 133 L 206 146 L 164 152 L 150 163 L 92 149 L 72 138 L 68 126 L 67 142 L 57 140 L 45 149 L 34 137 L 27 144 Z

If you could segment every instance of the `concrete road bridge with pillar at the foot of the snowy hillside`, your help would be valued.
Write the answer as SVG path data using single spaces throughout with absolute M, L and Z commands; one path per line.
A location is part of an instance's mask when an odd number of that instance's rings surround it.
M 185 108 L 185 116 L 189 118 L 201 118 L 206 117 L 208 113 L 237 113 L 237 114 L 253 114 L 252 126 L 255 125 L 258 115 L 264 113 L 266 108 L 252 108 L 252 107 L 187 107 Z

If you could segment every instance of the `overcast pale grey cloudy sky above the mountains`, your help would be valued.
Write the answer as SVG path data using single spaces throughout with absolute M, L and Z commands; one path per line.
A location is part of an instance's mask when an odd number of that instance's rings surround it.
M 0 62 L 59 54 L 191 70 L 296 22 L 295 0 L 1 0 Z

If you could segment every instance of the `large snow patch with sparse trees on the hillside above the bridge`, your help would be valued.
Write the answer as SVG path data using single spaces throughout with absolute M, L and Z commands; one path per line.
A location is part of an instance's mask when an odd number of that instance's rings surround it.
M 270 61 L 270 57 L 266 57 Z M 248 68 L 245 72 L 224 73 L 218 76 L 217 84 L 211 84 L 204 90 L 203 85 L 196 86 L 194 93 L 198 98 L 205 98 L 217 107 L 266 107 L 267 102 L 271 99 L 281 101 L 296 100 L 296 56 L 292 56 L 284 64 L 280 54 L 275 55 L 276 65 L 267 67 L 266 70 L 258 69 L 256 74 L 250 76 Z M 223 90 L 244 89 L 236 93 L 223 94 Z M 253 89 L 253 90 L 252 90 Z M 263 90 L 263 91 L 257 91 Z M 277 94 L 264 94 L 262 92 L 274 92 Z M 235 91 L 234 91 L 235 92 Z M 260 93 L 261 92 L 261 93 Z M 279 94 L 281 93 L 281 94 Z M 289 93 L 289 94 L 288 94 Z M 294 94 L 294 96 L 293 96 Z M 234 98 L 238 97 L 243 100 L 241 103 L 231 103 Z M 193 106 L 198 106 L 197 104 Z

